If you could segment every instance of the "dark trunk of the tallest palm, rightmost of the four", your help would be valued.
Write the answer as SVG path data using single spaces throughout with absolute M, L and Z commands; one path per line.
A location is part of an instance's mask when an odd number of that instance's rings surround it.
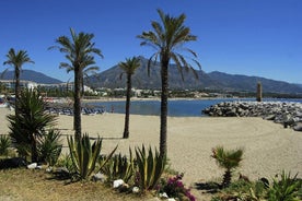
M 160 155 L 166 155 L 166 116 L 167 116 L 167 95 L 169 95 L 169 78 L 167 66 L 169 60 L 162 59 L 162 95 L 161 95 L 161 137 L 160 137 Z

